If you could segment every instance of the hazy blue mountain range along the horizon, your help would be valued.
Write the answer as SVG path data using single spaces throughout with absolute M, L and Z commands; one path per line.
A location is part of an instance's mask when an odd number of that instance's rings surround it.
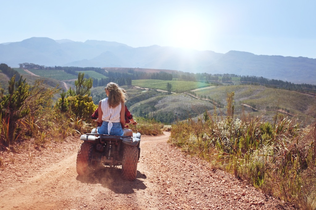
M 174 47 L 133 48 L 123 43 L 32 37 L 0 44 L 0 63 L 45 66 L 131 67 L 190 73 L 236 74 L 316 85 L 316 59 L 255 55 L 249 52 L 216 53 Z

